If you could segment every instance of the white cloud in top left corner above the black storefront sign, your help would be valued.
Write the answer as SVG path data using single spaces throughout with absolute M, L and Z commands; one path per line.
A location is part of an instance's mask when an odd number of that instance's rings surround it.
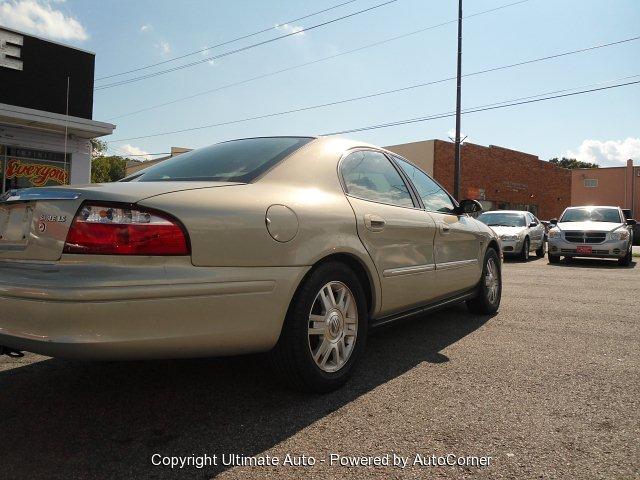
M 48 0 L 0 1 L 0 22 L 16 30 L 53 39 L 82 41 L 89 38 L 77 19 L 55 9 Z

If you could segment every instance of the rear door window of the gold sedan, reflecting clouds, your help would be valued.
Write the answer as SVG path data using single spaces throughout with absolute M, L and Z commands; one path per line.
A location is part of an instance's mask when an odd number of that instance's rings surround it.
M 342 161 L 340 170 L 349 195 L 399 207 L 414 206 L 402 177 L 380 152 L 354 152 Z

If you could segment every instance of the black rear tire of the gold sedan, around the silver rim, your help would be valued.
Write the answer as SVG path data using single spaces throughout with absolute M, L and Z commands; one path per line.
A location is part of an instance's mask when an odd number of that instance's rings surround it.
M 341 282 L 348 287 L 355 298 L 358 317 L 351 354 L 335 372 L 326 372 L 316 364 L 308 332 L 309 314 L 316 296 L 329 282 Z M 309 274 L 291 301 L 278 343 L 270 352 L 273 370 L 285 386 L 296 390 L 317 393 L 335 390 L 349 379 L 362 358 L 368 324 L 367 303 L 356 274 L 342 263 L 323 263 Z

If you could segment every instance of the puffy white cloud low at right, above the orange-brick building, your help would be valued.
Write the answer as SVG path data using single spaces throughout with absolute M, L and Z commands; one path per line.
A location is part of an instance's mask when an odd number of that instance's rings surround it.
M 584 140 L 577 151 L 567 150 L 562 156 L 597 163 L 602 167 L 620 167 L 626 165 L 630 158 L 640 160 L 640 138 Z

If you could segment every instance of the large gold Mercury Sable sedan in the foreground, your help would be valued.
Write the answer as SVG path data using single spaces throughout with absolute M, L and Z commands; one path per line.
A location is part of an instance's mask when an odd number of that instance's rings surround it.
M 362 142 L 223 142 L 125 181 L 0 201 L 0 352 L 80 359 L 270 351 L 328 391 L 369 327 L 500 305 L 497 235 L 407 160 Z

